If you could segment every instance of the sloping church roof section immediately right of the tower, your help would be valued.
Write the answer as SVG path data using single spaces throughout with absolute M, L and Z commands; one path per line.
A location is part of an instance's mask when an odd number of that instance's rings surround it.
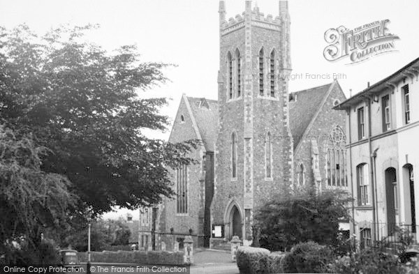
M 330 86 L 333 83 L 325 84 L 323 86 L 316 86 L 311 89 L 304 89 L 303 91 L 296 91 L 290 93 L 290 98 L 293 98 L 289 105 L 290 116 L 290 130 L 293 135 L 294 149 L 300 143 L 304 132 L 309 126 L 323 99 L 328 94 Z

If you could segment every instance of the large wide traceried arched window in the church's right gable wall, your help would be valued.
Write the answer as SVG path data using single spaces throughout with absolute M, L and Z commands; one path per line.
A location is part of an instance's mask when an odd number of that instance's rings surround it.
M 326 169 L 330 186 L 348 186 L 345 145 L 346 136 L 343 130 L 336 126 L 328 137 L 326 151 Z

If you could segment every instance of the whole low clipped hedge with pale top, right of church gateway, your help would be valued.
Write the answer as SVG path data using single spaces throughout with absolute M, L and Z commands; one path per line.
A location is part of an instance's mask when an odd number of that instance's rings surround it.
M 241 246 L 237 249 L 237 267 L 242 274 L 282 273 L 284 253 L 271 253 L 265 248 Z

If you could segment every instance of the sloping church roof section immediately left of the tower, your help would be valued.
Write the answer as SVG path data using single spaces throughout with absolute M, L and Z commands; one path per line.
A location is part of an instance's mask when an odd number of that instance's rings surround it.
M 203 139 L 205 149 L 207 151 L 214 151 L 216 136 L 218 134 L 218 101 L 205 98 L 186 98 L 191 106 L 191 112 Z

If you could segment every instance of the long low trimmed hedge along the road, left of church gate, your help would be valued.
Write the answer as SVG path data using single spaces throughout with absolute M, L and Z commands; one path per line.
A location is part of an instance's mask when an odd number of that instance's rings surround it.
M 80 261 L 87 261 L 87 252 L 79 252 Z M 184 252 L 159 251 L 103 251 L 90 252 L 90 261 L 95 263 L 184 265 Z

